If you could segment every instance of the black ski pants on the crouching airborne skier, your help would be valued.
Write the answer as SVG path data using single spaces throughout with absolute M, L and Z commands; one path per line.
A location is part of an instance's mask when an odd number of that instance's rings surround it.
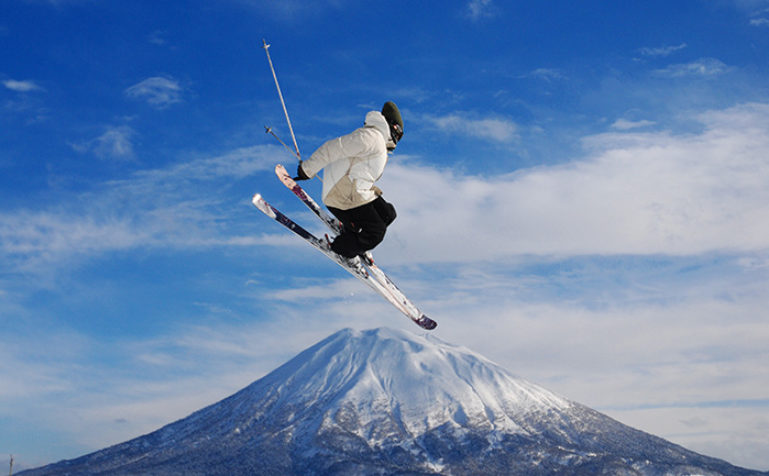
M 382 197 L 349 210 L 328 209 L 344 225 L 342 233 L 331 243 L 331 249 L 346 258 L 358 256 L 381 243 L 387 227 L 397 216 L 395 207 Z

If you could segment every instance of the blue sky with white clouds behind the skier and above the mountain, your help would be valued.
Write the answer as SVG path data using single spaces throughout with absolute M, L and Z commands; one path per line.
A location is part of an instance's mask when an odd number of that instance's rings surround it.
M 343 327 L 418 331 L 250 205 L 321 231 L 272 173 L 263 38 L 305 156 L 400 106 L 375 254 L 439 337 L 769 469 L 766 0 L 3 1 L 0 455 L 152 431 Z

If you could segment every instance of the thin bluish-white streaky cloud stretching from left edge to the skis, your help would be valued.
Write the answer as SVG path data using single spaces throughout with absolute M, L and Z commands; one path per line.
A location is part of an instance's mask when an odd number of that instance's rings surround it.
M 114 146 L 104 142 L 86 150 Z M 96 184 L 66 203 L 37 211 L 0 213 L 0 262 L 8 272 L 36 274 L 138 247 L 280 245 L 282 240 L 244 238 L 211 223 L 225 214 L 222 202 L 233 200 L 222 196 L 228 184 L 268 170 L 282 154 L 273 146 L 239 148 Z

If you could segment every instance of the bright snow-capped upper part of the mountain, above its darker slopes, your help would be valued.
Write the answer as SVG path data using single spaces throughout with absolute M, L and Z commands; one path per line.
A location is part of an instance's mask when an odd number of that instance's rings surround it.
M 432 335 L 389 328 L 344 329 L 275 373 L 283 381 L 301 382 L 284 389 L 295 401 L 315 406 L 322 400 L 329 414 L 353 407 L 363 425 L 382 414 L 397 415 L 398 424 L 411 435 L 444 424 L 468 423 L 515 431 L 520 429 L 516 420 L 524 413 L 571 406 L 468 349 Z M 302 378 L 290 378 L 288 373 Z M 374 411 L 364 411 L 367 408 Z

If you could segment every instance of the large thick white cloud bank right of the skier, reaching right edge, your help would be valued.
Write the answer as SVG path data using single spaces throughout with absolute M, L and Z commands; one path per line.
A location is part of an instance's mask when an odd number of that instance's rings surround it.
M 399 209 L 391 258 L 769 248 L 769 105 L 696 119 L 700 134 L 601 134 L 581 160 L 502 177 L 393 162 L 381 185 Z

